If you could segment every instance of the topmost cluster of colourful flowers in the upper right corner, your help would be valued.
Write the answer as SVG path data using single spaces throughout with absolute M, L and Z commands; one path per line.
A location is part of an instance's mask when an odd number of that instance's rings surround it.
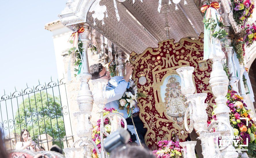
M 238 25 L 244 26 L 253 13 L 252 0 L 231 0 L 233 6 L 233 18 Z

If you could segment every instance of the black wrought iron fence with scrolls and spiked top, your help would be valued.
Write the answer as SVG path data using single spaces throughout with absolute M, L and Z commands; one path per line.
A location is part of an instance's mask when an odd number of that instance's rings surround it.
M 32 140 L 45 150 L 53 144 L 61 149 L 74 142 L 70 121 L 66 83 L 57 82 L 25 88 L 0 100 L 0 130 L 7 150 L 15 149 L 22 129 L 29 131 Z

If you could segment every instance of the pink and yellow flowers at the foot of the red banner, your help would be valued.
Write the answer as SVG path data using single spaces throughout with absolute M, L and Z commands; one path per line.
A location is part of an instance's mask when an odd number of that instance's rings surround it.
M 157 144 L 159 149 L 153 151 L 153 154 L 155 154 L 157 158 L 182 157 L 178 141 L 161 140 Z

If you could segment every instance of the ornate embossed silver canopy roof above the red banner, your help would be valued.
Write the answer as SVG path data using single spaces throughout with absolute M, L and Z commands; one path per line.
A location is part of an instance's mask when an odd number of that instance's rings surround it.
M 168 5 L 168 2 L 162 0 L 159 13 L 158 0 L 144 0 L 143 3 L 135 0 L 134 4 L 132 0 L 116 1 L 120 16 L 118 22 L 113 1 L 69 0 L 59 17 L 72 30 L 75 30 L 76 24 L 87 22 L 126 53 L 139 53 L 147 47 L 157 47 L 159 41 L 167 38 L 165 17 L 170 26 L 169 36 L 175 41 L 183 37 L 196 38 L 203 32 L 203 17 L 193 0 L 186 0 L 188 5 L 184 5 L 184 1 L 178 3 L 177 11 L 175 5 Z M 103 15 L 104 22 L 98 20 Z M 95 16 L 98 18 L 93 18 Z

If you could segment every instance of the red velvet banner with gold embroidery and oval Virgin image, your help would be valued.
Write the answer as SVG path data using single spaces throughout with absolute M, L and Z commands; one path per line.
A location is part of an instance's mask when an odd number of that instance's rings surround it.
M 184 141 L 188 137 L 184 127 L 184 114 L 187 108 L 186 98 L 180 91 L 180 77 L 176 69 L 193 66 L 195 93 L 208 93 L 207 114 L 211 119 L 213 94 L 209 86 L 212 62 L 203 61 L 203 34 L 198 40 L 182 38 L 178 43 L 174 39 L 158 43 L 158 48 L 147 48 L 143 53 L 130 54 L 135 66 L 132 79 L 138 91 L 147 98 L 138 99 L 140 119 L 147 128 L 145 142 L 152 150 L 158 149 L 159 140 L 170 140 L 173 133 Z

